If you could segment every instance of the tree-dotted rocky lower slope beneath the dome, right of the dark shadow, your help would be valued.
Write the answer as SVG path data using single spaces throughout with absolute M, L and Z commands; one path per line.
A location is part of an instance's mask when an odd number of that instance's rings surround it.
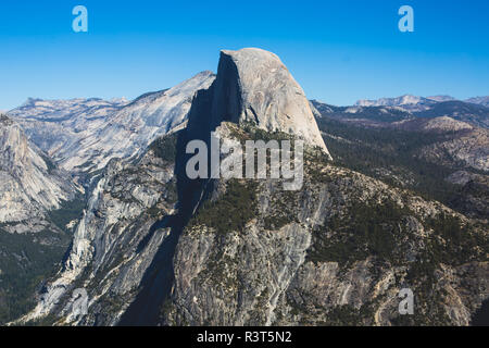
M 466 224 L 465 217 L 314 158 L 304 169 L 299 191 L 283 191 L 279 181 L 214 184 L 211 203 L 180 236 L 162 323 L 398 325 L 405 320 L 398 294 L 409 287 L 417 311 L 411 324 L 469 324 L 489 297 L 489 278 L 476 275 L 488 270 L 485 251 L 465 249 L 467 258 L 456 261 L 428 257 L 447 248 L 441 252 L 450 260 L 459 247 L 434 221 L 457 216 Z M 231 198 L 252 214 L 234 211 Z M 487 232 L 471 226 L 465 237 L 487 238 Z M 446 272 L 456 274 L 455 283 Z M 463 281 L 473 277 L 477 290 Z

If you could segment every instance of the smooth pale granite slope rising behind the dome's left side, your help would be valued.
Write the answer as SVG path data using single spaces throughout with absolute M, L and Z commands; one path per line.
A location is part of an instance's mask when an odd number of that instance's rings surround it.
M 103 169 L 113 158 L 137 156 L 158 137 L 185 126 L 193 95 L 214 80 L 211 72 L 200 73 L 181 84 L 145 95 L 111 114 L 106 125 L 96 134 L 68 148 L 61 165 L 77 171 Z

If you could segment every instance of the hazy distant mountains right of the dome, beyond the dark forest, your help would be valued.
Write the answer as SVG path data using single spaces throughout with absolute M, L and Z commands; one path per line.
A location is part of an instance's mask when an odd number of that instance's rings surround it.
M 450 133 L 436 147 L 423 149 L 439 162 L 450 161 L 489 171 L 489 109 L 459 100 L 436 102 L 430 109 L 409 112 L 399 107 L 331 107 L 311 101 L 316 117 L 328 117 L 365 128 L 398 129 L 424 134 Z M 443 159 L 447 161 L 447 159 Z

